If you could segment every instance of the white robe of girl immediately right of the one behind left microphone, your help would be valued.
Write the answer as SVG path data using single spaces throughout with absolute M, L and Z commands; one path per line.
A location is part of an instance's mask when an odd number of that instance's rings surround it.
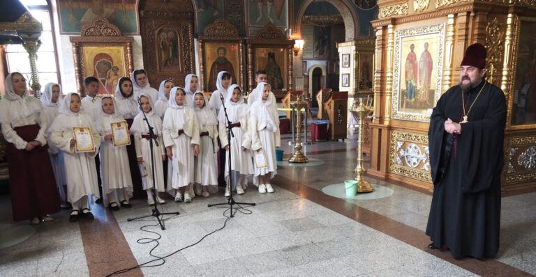
M 179 136 L 179 130 L 184 134 Z M 198 118 L 189 106 L 181 109 L 169 108 L 165 111 L 163 130 L 165 147 L 172 150 L 172 175 L 169 193 L 173 189 L 186 187 L 194 182 L 193 145 L 199 145 Z

